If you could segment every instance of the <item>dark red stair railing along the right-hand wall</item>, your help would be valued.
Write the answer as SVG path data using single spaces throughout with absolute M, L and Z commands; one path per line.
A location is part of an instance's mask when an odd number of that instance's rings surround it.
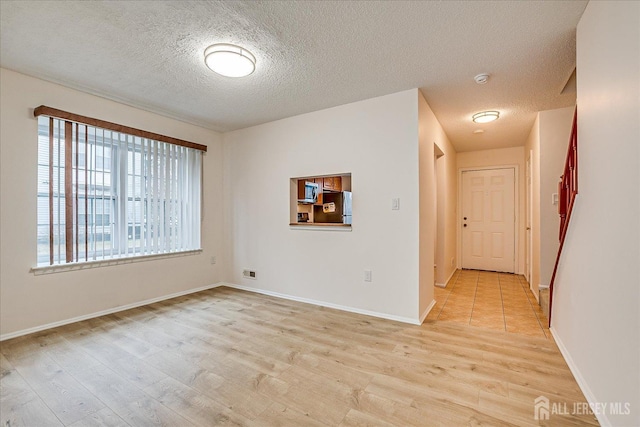
M 556 280 L 558 271 L 558 263 L 564 246 L 564 239 L 569 228 L 569 220 L 571 219 L 571 211 L 573 203 L 578 194 L 578 109 L 576 107 L 573 113 L 573 126 L 571 127 L 571 136 L 569 137 L 569 149 L 567 150 L 567 159 L 564 163 L 564 172 L 558 183 L 558 214 L 560 215 L 560 247 L 558 248 L 558 256 L 556 264 L 553 267 L 553 275 L 549 284 L 549 327 L 551 327 L 551 305 L 553 304 L 553 285 Z

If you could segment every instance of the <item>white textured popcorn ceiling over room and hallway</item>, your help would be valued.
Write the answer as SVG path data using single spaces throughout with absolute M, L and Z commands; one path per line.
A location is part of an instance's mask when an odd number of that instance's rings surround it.
M 586 3 L 2 1 L 0 65 L 218 131 L 420 88 L 458 151 L 509 147 L 574 102 Z M 219 42 L 255 73 L 209 71 Z M 484 109 L 501 118 L 473 124 Z

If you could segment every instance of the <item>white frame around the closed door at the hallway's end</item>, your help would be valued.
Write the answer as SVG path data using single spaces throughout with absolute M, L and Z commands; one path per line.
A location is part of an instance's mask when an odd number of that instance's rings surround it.
M 496 169 L 513 169 L 513 185 L 514 194 L 513 202 L 514 206 L 514 233 L 513 233 L 513 271 L 514 274 L 522 274 L 520 268 L 520 165 L 508 164 L 508 165 L 495 165 L 495 166 L 470 166 L 464 168 L 458 168 L 458 206 L 456 213 L 456 267 L 462 268 L 462 173 L 470 171 L 480 170 L 496 170 Z

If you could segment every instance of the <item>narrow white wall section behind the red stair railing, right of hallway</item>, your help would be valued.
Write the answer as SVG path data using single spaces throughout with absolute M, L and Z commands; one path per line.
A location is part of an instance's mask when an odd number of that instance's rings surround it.
M 549 286 L 558 254 L 560 217 L 552 196 L 558 193 L 558 181 L 564 171 L 575 107 L 541 111 L 540 117 L 540 272 L 538 285 Z M 536 296 L 537 296 L 537 292 Z

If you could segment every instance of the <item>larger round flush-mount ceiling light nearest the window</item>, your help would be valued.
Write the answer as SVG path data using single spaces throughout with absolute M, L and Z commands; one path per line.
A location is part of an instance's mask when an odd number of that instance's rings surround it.
M 204 51 L 204 63 L 214 73 L 225 77 L 244 77 L 256 69 L 256 57 L 240 46 L 213 44 Z

